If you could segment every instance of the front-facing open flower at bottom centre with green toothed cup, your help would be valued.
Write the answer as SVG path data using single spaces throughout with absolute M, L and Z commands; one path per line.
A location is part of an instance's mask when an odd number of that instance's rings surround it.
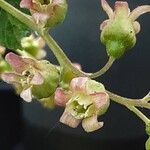
M 106 112 L 109 97 L 101 83 L 78 77 L 72 79 L 69 91 L 56 90 L 55 103 L 66 107 L 60 122 L 73 128 L 82 122 L 84 130 L 92 132 L 103 126 L 97 117 Z

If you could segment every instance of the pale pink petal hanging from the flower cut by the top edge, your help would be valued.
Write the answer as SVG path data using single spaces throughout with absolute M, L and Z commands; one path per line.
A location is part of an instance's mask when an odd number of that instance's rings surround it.
M 33 16 L 36 24 L 46 23 L 47 19 L 49 18 L 49 16 L 47 14 L 39 13 L 39 12 L 34 13 L 32 16 Z

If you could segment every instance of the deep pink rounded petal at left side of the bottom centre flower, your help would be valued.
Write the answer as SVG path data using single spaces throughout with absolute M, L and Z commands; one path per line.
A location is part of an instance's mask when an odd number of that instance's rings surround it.
M 61 107 L 65 106 L 68 101 L 67 97 L 67 93 L 63 89 L 57 88 L 54 97 L 55 104 Z

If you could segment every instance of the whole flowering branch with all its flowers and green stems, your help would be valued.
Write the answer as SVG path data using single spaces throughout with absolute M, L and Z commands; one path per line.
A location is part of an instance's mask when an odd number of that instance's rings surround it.
M 5 11 L 11 12 L 19 21 L 23 19 L 23 23 L 34 29 L 47 42 L 60 66 L 42 60 L 46 55 L 45 41 L 31 35 L 21 39 L 22 50 L 16 51 L 21 56 L 10 52 L 4 60 L 2 55 L 5 48 L 0 47 L 0 77 L 14 85 L 17 93 L 26 102 L 35 98 L 47 108 L 54 105 L 64 107 L 60 122 L 72 128 L 76 128 L 80 123 L 86 132 L 102 128 L 104 123 L 99 122 L 98 117 L 107 111 L 111 98 L 141 118 L 150 136 L 150 120 L 136 108 L 140 106 L 150 109 L 149 94 L 136 103 L 133 99 L 106 91 L 102 83 L 90 79 L 106 72 L 115 59 L 120 58 L 136 44 L 136 34 L 140 32 L 140 24 L 136 20 L 142 14 L 150 12 L 150 6 L 139 6 L 130 11 L 125 1 L 116 1 L 114 10 L 106 0 L 101 0 L 101 4 L 109 18 L 100 25 L 100 40 L 106 46 L 110 58 L 100 71 L 85 73 L 81 71 L 79 64 L 73 64 L 73 67 L 61 48 L 48 35 L 49 28 L 64 21 L 67 13 L 66 0 L 21 0 L 20 7 L 29 9 L 32 17 L 16 9 L 14 12 L 10 11 L 13 7 L 1 1 L 0 6 L 4 7 Z M 150 137 L 146 142 L 146 150 L 150 150 Z

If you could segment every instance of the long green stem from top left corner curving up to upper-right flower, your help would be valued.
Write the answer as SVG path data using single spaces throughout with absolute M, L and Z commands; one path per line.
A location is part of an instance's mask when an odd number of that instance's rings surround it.
M 19 21 L 21 21 L 22 23 L 30 27 L 33 31 L 37 31 L 39 35 L 46 41 L 46 43 L 48 44 L 48 46 L 50 47 L 50 49 L 56 56 L 60 65 L 65 66 L 66 68 L 70 69 L 75 75 L 96 78 L 104 74 L 113 64 L 114 60 L 110 58 L 108 63 L 100 71 L 94 74 L 84 73 L 78 70 L 76 67 L 73 66 L 71 61 L 65 55 L 63 50 L 59 47 L 59 45 L 55 42 L 55 40 L 48 34 L 48 31 L 40 29 L 40 27 L 38 27 L 37 24 L 35 24 L 32 21 L 31 16 L 22 13 L 21 11 L 14 8 L 13 6 L 11 6 L 9 3 L 7 3 L 4 0 L 0 0 L 0 7 L 3 8 L 8 13 L 10 13 L 15 18 L 17 18 Z

